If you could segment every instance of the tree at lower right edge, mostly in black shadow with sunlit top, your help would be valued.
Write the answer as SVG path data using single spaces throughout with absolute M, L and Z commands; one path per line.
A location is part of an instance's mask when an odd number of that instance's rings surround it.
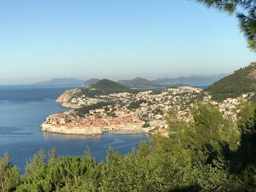
M 238 128 L 241 142 L 231 153 L 230 171 L 236 175 L 239 191 L 256 188 L 256 105 L 244 102 L 238 110 Z

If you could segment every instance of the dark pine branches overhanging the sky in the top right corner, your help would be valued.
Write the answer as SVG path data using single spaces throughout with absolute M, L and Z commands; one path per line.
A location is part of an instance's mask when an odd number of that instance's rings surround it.
M 241 31 L 247 39 L 248 47 L 256 51 L 256 1 L 255 0 L 195 0 L 206 4 L 207 7 L 216 7 L 229 14 L 236 12 Z M 243 12 L 238 12 L 241 7 Z

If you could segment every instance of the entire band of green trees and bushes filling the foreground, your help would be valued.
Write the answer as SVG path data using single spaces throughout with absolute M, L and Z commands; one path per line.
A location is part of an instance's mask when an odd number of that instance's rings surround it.
M 26 173 L 0 159 L 0 191 L 255 191 L 256 107 L 241 104 L 236 125 L 218 107 L 198 104 L 194 122 L 171 111 L 170 136 L 120 155 L 110 147 L 105 162 L 89 154 L 58 157 L 40 150 Z

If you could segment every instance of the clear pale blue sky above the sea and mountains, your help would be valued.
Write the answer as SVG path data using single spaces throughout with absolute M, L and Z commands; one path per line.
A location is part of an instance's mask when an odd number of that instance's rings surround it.
M 211 75 L 253 61 L 238 20 L 195 1 L 0 1 L 0 84 Z

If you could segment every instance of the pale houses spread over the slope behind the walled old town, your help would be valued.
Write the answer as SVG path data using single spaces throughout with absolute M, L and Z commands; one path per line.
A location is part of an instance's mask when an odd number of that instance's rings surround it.
M 112 104 L 101 109 L 90 110 L 88 114 L 85 114 L 85 117 L 89 119 L 113 117 L 113 114 L 117 117 L 132 115 L 133 118 L 149 123 L 152 120 L 162 120 L 163 125 L 165 125 L 165 115 L 171 109 L 175 109 L 178 112 L 178 118 L 187 121 L 192 120 L 190 115 L 192 101 L 196 99 L 201 91 L 200 88 L 181 87 L 167 88 L 161 93 L 154 93 L 154 91 L 111 93 L 108 96 L 95 96 L 95 98 L 80 96 L 72 99 L 72 103 L 75 104 L 77 102 L 79 106 L 82 103 L 83 106 L 87 106 L 99 101 Z

